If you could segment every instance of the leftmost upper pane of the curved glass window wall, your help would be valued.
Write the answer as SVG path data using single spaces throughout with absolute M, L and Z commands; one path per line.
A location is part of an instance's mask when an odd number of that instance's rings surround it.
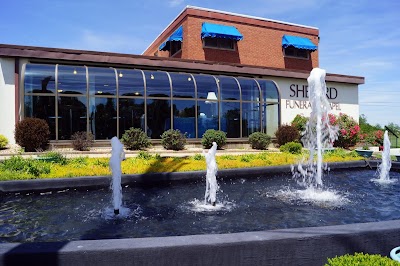
M 24 88 L 25 93 L 54 93 L 55 65 L 27 64 Z

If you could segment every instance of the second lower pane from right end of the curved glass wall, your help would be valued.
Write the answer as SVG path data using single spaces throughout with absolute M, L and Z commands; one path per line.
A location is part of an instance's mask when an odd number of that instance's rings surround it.
M 242 137 L 261 131 L 259 102 L 242 103 Z

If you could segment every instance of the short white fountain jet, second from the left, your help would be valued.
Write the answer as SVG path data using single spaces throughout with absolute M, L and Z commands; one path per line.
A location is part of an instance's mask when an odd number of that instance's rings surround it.
M 207 172 L 206 172 L 206 193 L 204 196 L 205 204 L 210 202 L 212 206 L 215 206 L 217 201 L 217 191 L 219 189 L 217 183 L 217 161 L 215 160 L 215 154 L 217 153 L 217 143 L 213 142 L 212 147 L 207 153 L 203 151 L 203 155 L 206 158 Z

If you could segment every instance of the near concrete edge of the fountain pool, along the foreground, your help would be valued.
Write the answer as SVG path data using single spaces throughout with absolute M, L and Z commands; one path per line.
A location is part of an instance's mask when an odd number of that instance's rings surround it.
M 323 265 L 364 252 L 388 256 L 400 220 L 215 235 L 0 244 L 0 265 Z

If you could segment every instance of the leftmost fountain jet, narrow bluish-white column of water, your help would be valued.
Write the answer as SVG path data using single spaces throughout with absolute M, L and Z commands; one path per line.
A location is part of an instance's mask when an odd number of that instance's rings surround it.
M 125 152 L 124 146 L 117 137 L 111 139 L 111 147 L 111 158 L 109 164 L 112 172 L 112 179 L 110 188 L 112 190 L 114 214 L 118 215 L 122 206 L 121 161 L 125 160 Z

